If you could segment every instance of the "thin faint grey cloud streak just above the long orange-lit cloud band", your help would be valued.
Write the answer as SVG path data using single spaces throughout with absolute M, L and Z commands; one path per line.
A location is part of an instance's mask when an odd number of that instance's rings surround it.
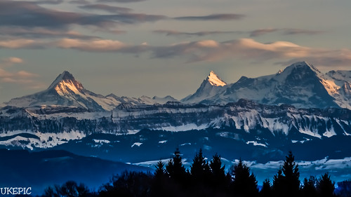
M 155 30 L 154 33 L 166 34 L 166 36 L 208 36 L 215 34 L 242 34 L 240 31 L 204 31 L 204 32 L 178 32 L 175 30 L 159 29 Z

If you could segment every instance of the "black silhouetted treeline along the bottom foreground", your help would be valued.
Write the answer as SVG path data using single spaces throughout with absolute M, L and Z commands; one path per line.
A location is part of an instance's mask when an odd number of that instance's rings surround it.
M 206 161 L 201 149 L 194 156 L 190 169 L 183 165 L 180 151 L 176 149 L 168 163 L 159 161 L 154 174 L 148 172 L 124 172 L 114 175 L 110 182 L 98 191 L 91 192 L 84 184 L 66 182 L 62 186 L 49 186 L 42 197 L 147 197 L 147 196 L 237 196 L 237 197 L 332 197 L 351 196 L 351 181 L 338 183 L 328 173 L 310 177 L 300 182 L 300 172 L 291 152 L 277 174 L 265 179 L 258 189 L 255 175 L 241 159 L 225 172 L 218 154 Z

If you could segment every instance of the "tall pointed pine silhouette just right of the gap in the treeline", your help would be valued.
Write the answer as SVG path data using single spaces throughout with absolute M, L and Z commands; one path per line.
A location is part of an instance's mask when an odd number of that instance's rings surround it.
M 273 178 L 273 191 L 275 196 L 297 196 L 300 189 L 300 172 L 295 163 L 295 157 L 289 151 L 286 160 L 278 174 Z

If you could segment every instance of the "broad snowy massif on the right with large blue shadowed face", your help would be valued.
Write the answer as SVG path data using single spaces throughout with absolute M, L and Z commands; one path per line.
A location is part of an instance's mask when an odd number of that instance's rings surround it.
M 350 81 L 350 72 L 331 71 L 322 74 L 312 64 L 296 62 L 277 74 L 258 78 L 242 76 L 236 83 L 222 83 L 223 86 L 211 86 L 207 78 L 196 93 L 181 101 L 226 104 L 244 98 L 262 104 L 351 109 Z

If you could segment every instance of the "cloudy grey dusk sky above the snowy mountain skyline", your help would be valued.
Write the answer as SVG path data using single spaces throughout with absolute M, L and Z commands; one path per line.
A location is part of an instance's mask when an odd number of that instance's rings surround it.
M 0 102 L 69 71 L 94 93 L 194 93 L 307 61 L 351 70 L 349 0 L 0 0 Z

